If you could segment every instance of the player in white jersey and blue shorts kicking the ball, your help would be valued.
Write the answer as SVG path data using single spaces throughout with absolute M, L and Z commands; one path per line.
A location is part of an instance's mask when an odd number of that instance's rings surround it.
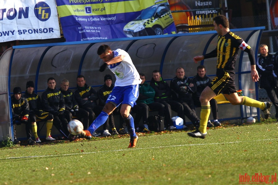
M 128 53 L 122 49 L 112 51 L 108 45 L 102 44 L 99 46 L 97 54 L 115 74 L 116 82 L 103 110 L 93 121 L 88 130 L 83 130 L 82 135 L 87 139 L 91 139 L 91 134 L 95 132 L 99 126 L 104 124 L 108 116 L 122 103 L 120 113 L 124 118 L 130 134 L 128 148 L 136 147 L 138 136 L 135 133 L 134 120 L 130 114 L 130 109 L 135 104 L 139 95 L 138 88 L 142 81 L 140 75 Z

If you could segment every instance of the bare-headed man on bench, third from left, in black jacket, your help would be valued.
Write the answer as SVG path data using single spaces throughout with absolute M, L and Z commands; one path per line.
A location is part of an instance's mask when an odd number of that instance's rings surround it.
M 45 112 L 53 114 L 54 126 L 61 133 L 62 137 L 67 139 L 70 132 L 67 129 L 68 121 L 64 115 L 65 100 L 63 94 L 60 90 L 56 89 L 55 78 L 48 78 L 47 85 L 47 89 L 41 95 L 41 105 Z M 50 137 L 46 137 L 46 140 L 53 141 Z

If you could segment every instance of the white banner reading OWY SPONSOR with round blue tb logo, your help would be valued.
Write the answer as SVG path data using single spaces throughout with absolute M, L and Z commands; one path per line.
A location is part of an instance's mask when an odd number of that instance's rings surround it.
M 0 42 L 60 38 L 55 0 L 0 1 Z

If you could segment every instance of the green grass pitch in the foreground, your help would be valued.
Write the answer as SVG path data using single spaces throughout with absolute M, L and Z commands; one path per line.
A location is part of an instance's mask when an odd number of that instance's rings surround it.
M 0 148 L 0 184 L 278 184 L 278 124 Z M 269 177 L 268 177 L 269 176 Z M 252 177 L 254 178 L 252 181 Z M 268 178 L 267 178 L 268 177 Z

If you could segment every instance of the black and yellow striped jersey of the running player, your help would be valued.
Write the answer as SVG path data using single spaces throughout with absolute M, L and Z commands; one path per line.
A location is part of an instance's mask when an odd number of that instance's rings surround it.
M 255 65 L 254 51 L 240 36 L 235 35 L 233 32 L 228 32 L 225 36 L 218 35 L 216 49 L 205 54 L 204 59 L 217 57 L 217 69 L 232 71 L 234 70 L 239 49 L 248 53 L 251 65 Z

